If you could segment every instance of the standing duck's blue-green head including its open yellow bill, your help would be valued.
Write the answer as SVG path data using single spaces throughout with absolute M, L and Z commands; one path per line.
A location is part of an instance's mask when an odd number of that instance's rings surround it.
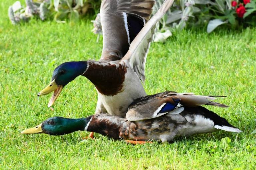
M 82 75 L 86 69 L 86 61 L 62 63 L 54 69 L 50 84 L 40 91 L 37 96 L 46 95 L 54 91 L 52 98 L 48 103 L 48 107 L 52 106 L 60 95 L 63 87 L 74 80 L 77 76 Z

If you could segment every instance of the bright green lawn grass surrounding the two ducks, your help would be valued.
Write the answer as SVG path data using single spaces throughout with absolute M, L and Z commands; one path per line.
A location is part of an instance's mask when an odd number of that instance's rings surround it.
M 153 43 L 147 58 L 148 94 L 175 90 L 226 95 L 229 108 L 207 107 L 244 132 L 219 131 L 180 138 L 173 143 L 127 145 L 89 132 L 65 136 L 21 135 L 53 116 L 94 113 L 97 94 L 84 77 L 69 83 L 55 103 L 37 97 L 53 69 L 65 61 L 99 59 L 102 38 L 84 20 L 74 26 L 55 22 L 11 25 L 0 1 L 0 169 L 256 169 L 256 28 L 238 31 L 175 33 Z M 253 38 L 254 37 L 254 38 Z M 228 140 L 230 139 L 230 141 Z

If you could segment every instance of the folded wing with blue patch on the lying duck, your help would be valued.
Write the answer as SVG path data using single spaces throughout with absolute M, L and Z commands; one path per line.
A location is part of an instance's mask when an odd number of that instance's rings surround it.
M 126 113 L 126 118 L 129 121 L 137 121 L 159 117 L 166 113 L 175 115 L 181 113 L 184 110 L 184 107 L 197 107 L 201 105 L 228 107 L 224 104 L 212 102 L 211 100 L 214 99 L 214 96 L 200 96 L 192 93 L 165 92 L 155 95 L 148 100 L 133 103 Z

